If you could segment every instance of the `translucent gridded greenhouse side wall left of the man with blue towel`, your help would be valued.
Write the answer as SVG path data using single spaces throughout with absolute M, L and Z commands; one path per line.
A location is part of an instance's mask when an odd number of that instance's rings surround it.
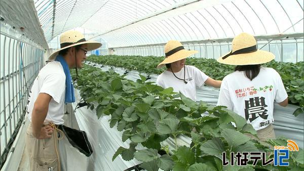
M 0 34 L 1 163 L 24 119 L 29 88 L 44 66 L 44 52 L 13 36 Z

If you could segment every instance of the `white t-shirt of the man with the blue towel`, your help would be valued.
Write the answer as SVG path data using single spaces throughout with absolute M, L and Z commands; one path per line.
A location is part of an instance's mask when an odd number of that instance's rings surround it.
M 63 124 L 64 98 L 65 98 L 65 74 L 62 65 L 58 61 L 49 62 L 35 78 L 29 103 L 27 105 L 28 118 L 31 121 L 32 110 L 37 96 L 46 93 L 52 96 L 49 103 L 49 110 L 44 122 L 51 121 L 55 124 Z

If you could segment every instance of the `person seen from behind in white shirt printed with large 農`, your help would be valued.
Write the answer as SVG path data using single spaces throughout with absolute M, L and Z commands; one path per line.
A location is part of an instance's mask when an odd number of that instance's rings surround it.
M 233 39 L 232 51 L 217 59 L 219 63 L 236 65 L 235 72 L 223 78 L 217 105 L 244 117 L 261 141 L 275 138 L 274 101 L 281 106 L 288 104 L 279 73 L 260 66 L 274 58 L 274 54 L 257 49 L 252 35 L 241 33 Z

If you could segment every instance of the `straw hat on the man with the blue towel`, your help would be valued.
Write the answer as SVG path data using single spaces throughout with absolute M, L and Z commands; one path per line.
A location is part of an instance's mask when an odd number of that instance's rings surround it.
M 85 36 L 79 31 L 69 30 L 60 35 L 60 49 L 53 52 L 49 56 L 48 60 L 49 61 L 55 60 L 56 56 L 61 50 L 83 44 L 88 45 L 88 51 L 93 51 L 95 49 L 98 49 L 102 45 L 100 44 L 100 42 L 97 41 L 87 41 Z

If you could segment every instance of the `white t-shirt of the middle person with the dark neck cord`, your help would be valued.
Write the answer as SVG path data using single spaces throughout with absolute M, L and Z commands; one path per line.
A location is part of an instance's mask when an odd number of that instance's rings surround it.
M 201 87 L 209 76 L 197 67 L 191 65 L 185 65 L 185 71 L 185 80 L 187 83 L 177 79 L 173 73 L 168 70 L 165 70 L 158 76 L 156 83 L 164 89 L 172 87 L 174 92 L 181 92 L 184 96 L 196 101 L 196 87 Z M 174 72 L 174 74 L 178 78 L 183 79 L 184 68 L 178 72 Z

